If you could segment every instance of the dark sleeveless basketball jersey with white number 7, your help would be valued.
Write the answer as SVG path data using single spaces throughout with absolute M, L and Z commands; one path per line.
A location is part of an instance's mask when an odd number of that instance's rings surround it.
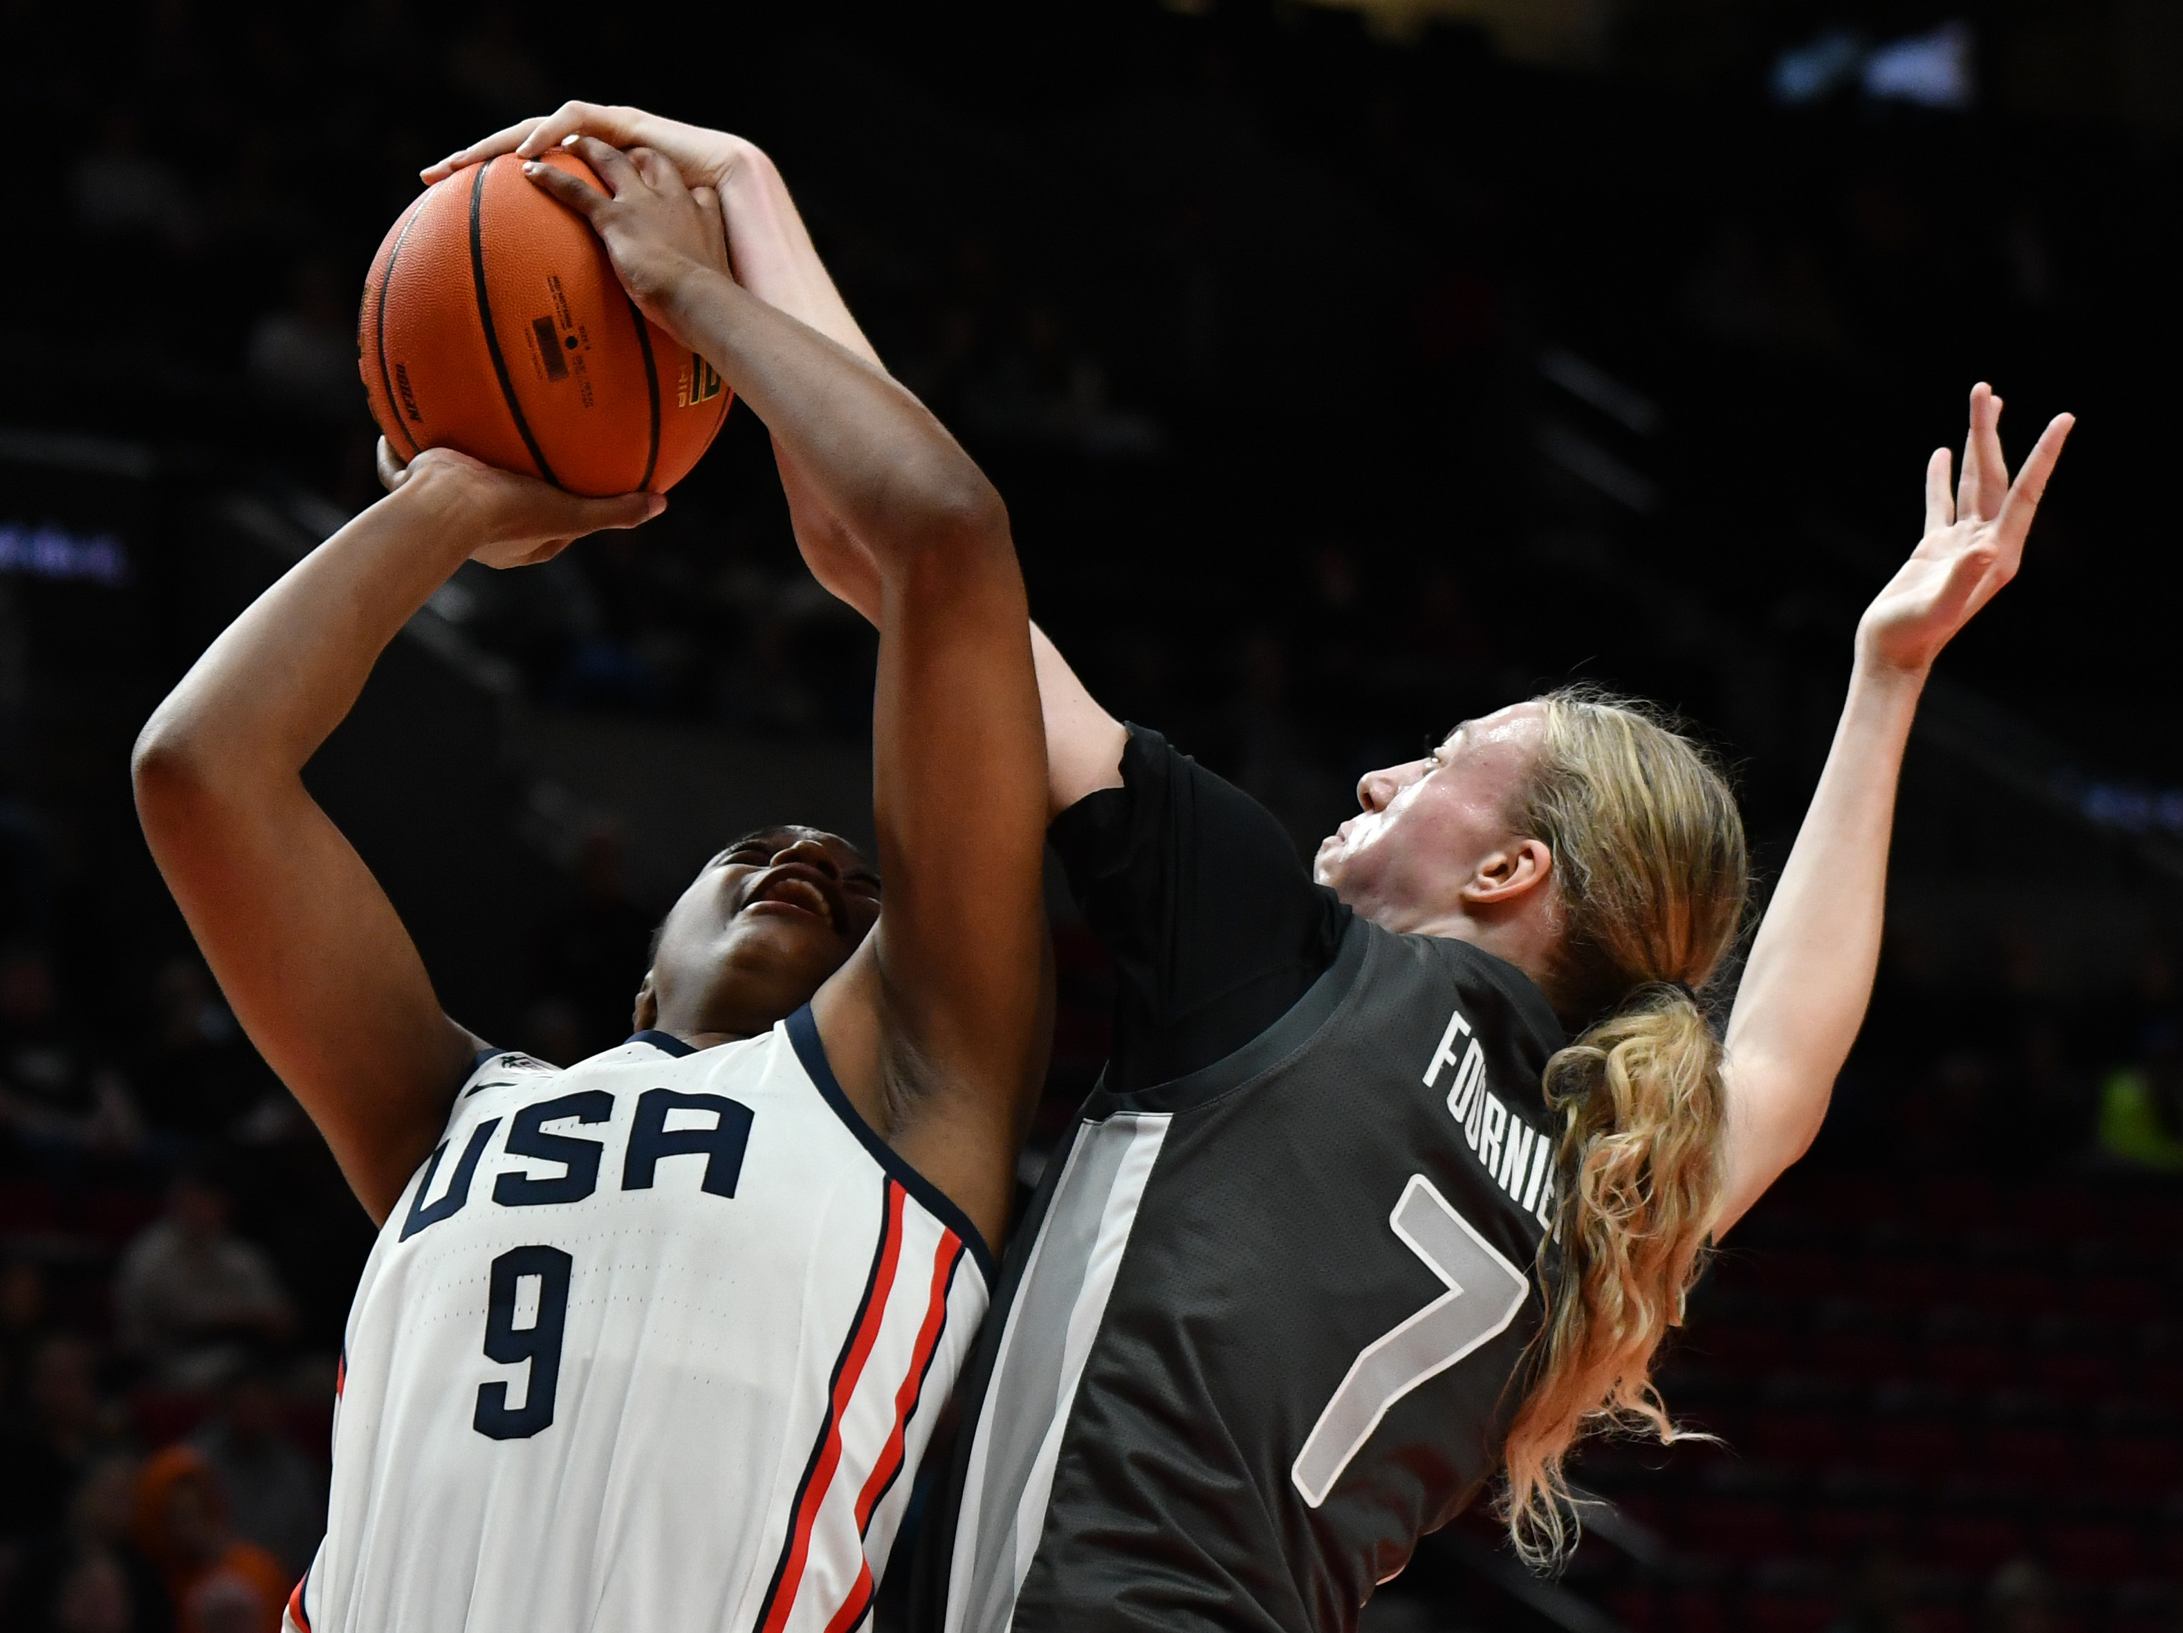
M 1244 1048 L 1096 1089 L 963 1375 L 919 1633 L 1353 1626 L 1498 1469 L 1563 1041 L 1515 967 L 1349 919 Z

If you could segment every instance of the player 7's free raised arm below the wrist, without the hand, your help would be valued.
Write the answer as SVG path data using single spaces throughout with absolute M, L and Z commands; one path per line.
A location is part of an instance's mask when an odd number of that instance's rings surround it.
M 1729 1017 L 1729 1218 L 1812 1144 L 1880 967 L 1888 843 L 1925 677 L 1860 661 Z

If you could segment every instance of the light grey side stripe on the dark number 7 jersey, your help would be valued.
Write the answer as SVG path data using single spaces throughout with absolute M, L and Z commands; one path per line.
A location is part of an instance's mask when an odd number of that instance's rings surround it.
M 1022 1528 L 1046 1519 L 1076 1380 L 1166 1133 L 1164 1113 L 1116 1116 L 1070 1153 L 987 1391 L 982 1456 L 974 1452 L 969 1469 L 976 1515 L 956 1519 L 947 1633 L 1004 1633 L 1015 1618 L 1030 1561 Z

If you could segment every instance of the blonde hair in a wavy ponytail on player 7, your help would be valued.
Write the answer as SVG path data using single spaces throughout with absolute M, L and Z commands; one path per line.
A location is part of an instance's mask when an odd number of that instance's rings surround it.
M 1546 734 L 1511 825 L 1554 854 L 1563 915 L 1546 993 L 1583 1035 L 1546 1063 L 1561 1203 L 1546 1323 L 1508 1430 L 1517 1552 L 1574 1543 L 1563 1461 L 1594 1430 L 1679 1439 L 1653 1356 L 1681 1321 L 1722 1190 L 1720 1041 L 1698 1006 L 1749 895 L 1744 823 L 1698 744 L 1594 690 L 1541 699 Z

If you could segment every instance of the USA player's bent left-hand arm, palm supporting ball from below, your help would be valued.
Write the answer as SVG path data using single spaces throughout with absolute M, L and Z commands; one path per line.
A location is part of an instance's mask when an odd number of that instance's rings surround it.
M 303 766 L 386 642 L 465 559 L 537 561 L 661 504 L 583 500 L 428 452 L 266 589 L 138 738 L 138 812 L 159 871 L 242 1028 L 373 1220 L 430 1153 L 478 1039 L 441 1011 Z

